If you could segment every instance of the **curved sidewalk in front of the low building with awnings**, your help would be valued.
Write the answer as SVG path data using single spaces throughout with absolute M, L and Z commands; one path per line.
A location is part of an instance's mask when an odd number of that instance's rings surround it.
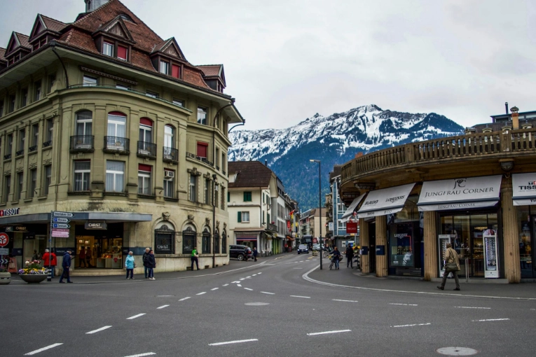
M 347 268 L 341 264 L 339 270 L 329 270 L 329 265 L 324 265 L 303 275 L 304 279 L 314 283 L 333 284 L 347 288 L 366 290 L 385 290 L 401 293 L 431 294 L 431 295 L 463 295 L 470 297 L 506 298 L 521 300 L 536 300 L 535 283 L 486 283 L 485 281 L 465 282 L 460 278 L 461 291 L 454 291 L 454 279 L 447 279 L 445 290 L 439 290 L 437 286 L 441 281 L 424 281 L 422 279 L 400 279 L 399 277 L 377 278 L 374 274 L 362 274 L 357 269 Z

